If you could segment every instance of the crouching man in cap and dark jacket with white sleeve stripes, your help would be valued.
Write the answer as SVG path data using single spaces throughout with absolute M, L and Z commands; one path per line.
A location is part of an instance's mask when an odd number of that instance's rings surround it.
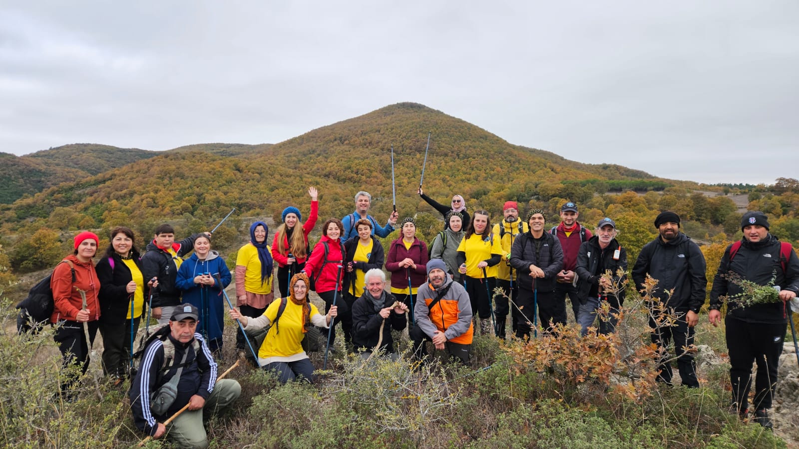
M 169 333 L 145 349 L 129 392 L 136 427 L 154 439 L 167 434 L 181 447 L 208 447 L 204 411 L 221 410 L 241 394 L 236 380 L 217 381 L 217 363 L 196 331 L 197 308 L 191 304 L 177 308 L 169 320 Z M 173 379 L 177 395 L 173 403 L 160 406 L 160 390 Z M 186 404 L 188 410 L 177 415 L 169 427 L 163 424 Z

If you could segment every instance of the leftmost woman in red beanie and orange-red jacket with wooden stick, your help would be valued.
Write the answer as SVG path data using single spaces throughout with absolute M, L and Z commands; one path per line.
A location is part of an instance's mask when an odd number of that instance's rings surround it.
M 99 239 L 93 232 L 79 233 L 75 236 L 75 251 L 56 266 L 50 278 L 54 302 L 50 323 L 58 324 L 53 340 L 64 357 L 64 367 L 81 364 L 84 374 L 89 368 L 89 348 L 97 335 L 97 319 L 100 318 L 97 300 L 100 281 L 92 263 L 97 244 Z M 85 326 L 89 342 L 86 342 Z M 76 380 L 77 376 L 73 376 L 62 383 L 62 392 L 69 391 Z

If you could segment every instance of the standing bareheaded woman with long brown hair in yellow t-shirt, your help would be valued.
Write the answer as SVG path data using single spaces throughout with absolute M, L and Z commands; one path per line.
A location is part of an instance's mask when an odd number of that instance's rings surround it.
M 496 286 L 496 265 L 502 260 L 502 242 L 491 232 L 491 217 L 480 209 L 458 245 L 457 263 L 463 275 L 463 287 L 469 293 L 471 310 L 480 317 L 480 333 L 491 334 L 491 295 Z M 487 287 L 486 287 L 487 285 Z M 477 314 L 475 314 L 477 316 Z

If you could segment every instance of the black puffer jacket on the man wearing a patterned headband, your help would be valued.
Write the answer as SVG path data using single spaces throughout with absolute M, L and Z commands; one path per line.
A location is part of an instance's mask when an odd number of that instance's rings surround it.
M 543 233 L 539 251 L 535 250 L 535 239 L 531 232 L 516 237 L 511 247 L 511 267 L 518 270 L 519 288 L 533 289 L 530 265 L 535 264 L 544 272 L 543 279 L 535 280 L 539 292 L 555 291 L 555 277 L 563 267 L 563 249 L 557 237 L 549 232 Z

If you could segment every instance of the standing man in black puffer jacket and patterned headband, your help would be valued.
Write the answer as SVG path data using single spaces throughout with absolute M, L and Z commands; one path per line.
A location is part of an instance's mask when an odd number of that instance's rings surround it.
M 511 248 L 511 267 L 519 273 L 516 300 L 522 309 L 516 323 L 519 338 L 530 336 L 536 308 L 545 330 L 551 330 L 555 324 L 566 324 L 566 301 L 555 298 L 555 279 L 563 266 L 563 250 L 557 237 L 544 232 L 546 220 L 543 210 L 531 210 L 527 214 L 530 231 L 516 237 Z

